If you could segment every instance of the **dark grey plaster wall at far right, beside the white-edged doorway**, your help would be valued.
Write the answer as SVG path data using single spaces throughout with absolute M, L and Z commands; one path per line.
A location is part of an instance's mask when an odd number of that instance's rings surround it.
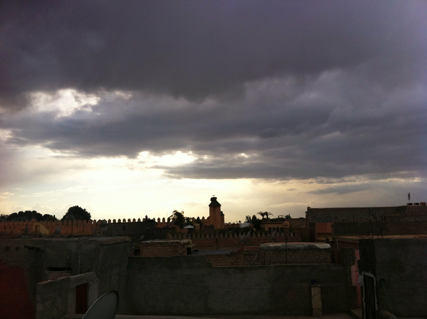
M 375 278 L 378 309 L 427 317 L 427 238 L 360 239 L 359 252 L 360 275 Z

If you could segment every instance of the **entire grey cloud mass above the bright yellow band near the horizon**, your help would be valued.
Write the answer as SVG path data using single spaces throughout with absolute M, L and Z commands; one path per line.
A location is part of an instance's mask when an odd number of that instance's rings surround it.
M 191 156 L 153 166 L 171 178 L 425 176 L 424 2 L 10 1 L 0 12 L 10 147 Z

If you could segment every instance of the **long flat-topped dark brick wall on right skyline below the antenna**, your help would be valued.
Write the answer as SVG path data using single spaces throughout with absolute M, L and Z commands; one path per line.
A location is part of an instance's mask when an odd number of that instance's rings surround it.
M 426 205 L 389 207 L 307 208 L 310 222 L 363 222 L 385 215 L 427 214 Z

